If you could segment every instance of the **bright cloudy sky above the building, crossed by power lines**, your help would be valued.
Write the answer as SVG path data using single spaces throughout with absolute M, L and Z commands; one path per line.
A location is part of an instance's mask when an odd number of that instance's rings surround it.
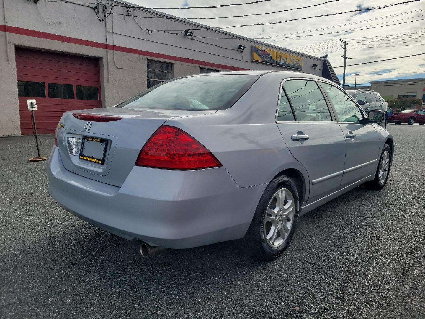
M 148 8 L 184 8 L 187 6 L 218 6 L 252 1 L 132 0 L 130 2 Z M 331 0 L 268 0 L 262 3 L 214 9 L 157 10 L 185 18 L 227 17 L 312 6 L 327 1 Z M 258 16 L 197 19 L 194 21 L 213 27 L 235 26 L 373 8 L 404 1 L 406 0 L 338 0 L 308 9 Z M 274 25 L 227 28 L 226 31 L 315 56 L 329 54 L 329 60 L 334 67 L 343 65 L 343 58 L 340 57 L 340 55 L 343 55 L 339 41 L 341 38 L 348 42 L 347 56 L 351 60 L 347 61 L 347 65 L 364 63 L 425 52 L 425 0 L 379 10 L 351 12 Z M 335 72 L 341 80 L 342 70 L 342 68 L 335 68 Z M 355 73 L 360 74 L 357 76 L 357 84 L 368 84 L 368 81 L 373 80 L 425 77 L 425 55 L 360 66 L 348 66 L 346 84 L 354 84 Z

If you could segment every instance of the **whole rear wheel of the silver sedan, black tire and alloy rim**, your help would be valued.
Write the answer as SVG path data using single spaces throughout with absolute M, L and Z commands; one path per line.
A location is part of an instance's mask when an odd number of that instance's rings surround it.
M 299 197 L 295 182 L 285 175 L 275 177 L 258 203 L 241 247 L 256 259 L 272 260 L 288 248 L 295 233 Z

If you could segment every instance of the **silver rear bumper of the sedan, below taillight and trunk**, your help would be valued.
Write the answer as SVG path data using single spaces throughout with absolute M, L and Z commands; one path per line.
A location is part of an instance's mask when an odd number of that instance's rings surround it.
M 240 188 L 224 167 L 172 171 L 135 166 L 121 187 L 48 160 L 51 196 L 75 216 L 126 239 L 191 248 L 245 235 L 266 184 Z

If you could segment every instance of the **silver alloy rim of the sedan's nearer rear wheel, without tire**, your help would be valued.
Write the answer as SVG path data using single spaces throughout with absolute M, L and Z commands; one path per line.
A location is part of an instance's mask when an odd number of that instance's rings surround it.
M 264 218 L 264 239 L 272 248 L 285 242 L 295 217 L 295 201 L 291 191 L 280 188 L 270 199 Z

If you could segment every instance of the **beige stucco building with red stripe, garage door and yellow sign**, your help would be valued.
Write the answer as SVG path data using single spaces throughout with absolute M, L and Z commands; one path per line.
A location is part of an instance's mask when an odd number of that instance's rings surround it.
M 32 134 L 28 99 L 39 133 L 52 133 L 64 111 L 113 106 L 173 77 L 250 69 L 339 84 L 327 59 L 128 2 L 0 2 L 0 136 Z

